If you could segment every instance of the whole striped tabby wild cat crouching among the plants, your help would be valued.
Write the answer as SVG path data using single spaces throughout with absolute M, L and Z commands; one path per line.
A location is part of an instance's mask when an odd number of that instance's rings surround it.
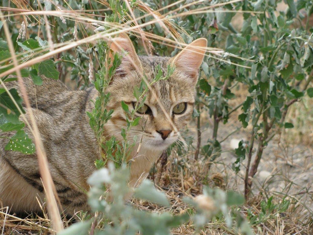
M 148 91 L 145 105 L 136 113 L 136 117 L 142 118 L 135 127 L 137 130 L 131 131 L 130 136 L 138 134 L 141 138 L 142 122 L 145 123 L 145 128 L 144 144 L 131 163 L 130 185 L 134 185 L 142 175 L 147 175 L 162 151 L 177 140 L 178 133 L 167 117 L 171 118 L 177 130 L 190 120 L 199 66 L 203 60 L 207 40 L 197 39 L 177 56 L 170 58 L 137 56 L 131 40 L 125 35 L 122 38 L 111 45 L 113 51 L 120 52 L 123 48 L 128 54 L 122 59 L 119 72 L 108 88 L 111 100 L 107 109 L 114 109 L 114 112 L 105 125 L 104 136 L 121 137 L 121 128 L 126 126 L 126 113 L 121 107 L 121 101 L 128 104 L 129 109 L 133 108 L 132 103 L 136 102 L 133 88 L 140 86 L 143 71 L 151 81 L 155 77 L 156 65 L 161 65 L 164 74 L 167 72 L 168 64 L 176 67 L 168 80 L 158 81 L 152 85 L 159 102 Z M 81 191 L 81 187 L 88 191 L 89 185 L 86 181 L 95 170 L 94 161 L 99 156 L 95 134 L 90 128 L 86 111 L 92 111 L 94 105 L 91 100 L 95 100 L 98 93 L 94 87 L 85 91 L 70 91 L 60 81 L 44 77 L 43 80 L 42 86 L 34 86 L 30 78 L 23 81 L 43 140 L 49 169 L 66 212 L 72 214 L 78 210 L 86 211 L 87 196 Z M 17 82 L 11 82 L 8 86 L 18 89 Z M 165 116 L 160 103 L 169 116 Z M 25 110 L 28 117 L 27 109 Z M 29 129 L 27 127 L 24 129 L 33 139 Z M 5 151 L 4 146 L 7 142 L 8 139 L 0 139 L 0 199 L 3 206 L 9 206 L 11 212 L 38 212 L 40 207 L 36 196 L 43 200 L 44 191 L 37 156 Z M 137 146 L 134 152 L 136 150 Z

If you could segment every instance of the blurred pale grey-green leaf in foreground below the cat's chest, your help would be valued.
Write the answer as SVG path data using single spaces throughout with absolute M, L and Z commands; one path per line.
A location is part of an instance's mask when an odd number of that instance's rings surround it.
M 141 185 L 135 189 L 134 196 L 162 206 L 169 206 L 170 203 L 164 193 L 157 191 L 150 180 L 144 180 Z

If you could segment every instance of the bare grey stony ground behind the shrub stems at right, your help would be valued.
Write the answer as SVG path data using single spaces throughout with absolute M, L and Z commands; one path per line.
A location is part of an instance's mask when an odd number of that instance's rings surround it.
M 236 129 L 238 125 L 235 123 L 221 124 L 218 129 L 219 139 L 226 137 L 229 133 Z M 207 140 L 212 138 L 212 126 L 202 128 L 201 145 L 207 144 Z M 309 211 L 313 212 L 313 149 L 309 146 L 301 144 L 290 144 L 284 140 L 284 135 L 276 136 L 269 142 L 264 149 L 262 159 L 260 161 L 258 172 L 254 178 L 253 193 L 258 194 L 260 191 L 269 194 L 288 195 L 289 198 L 298 200 L 299 203 L 305 205 L 306 211 L 303 215 L 308 215 Z M 238 147 L 241 139 L 249 140 L 251 133 L 248 129 L 231 135 L 222 144 L 222 153 L 215 160 L 211 173 L 220 172 L 228 183 L 227 187 L 238 189 L 244 192 L 244 181 L 242 180 L 245 172 L 247 159 L 244 160 L 244 166 L 241 166 L 238 175 L 231 169 L 232 163 L 236 160 L 234 148 Z M 256 141 L 255 148 L 258 146 Z M 251 162 L 253 162 L 254 156 Z

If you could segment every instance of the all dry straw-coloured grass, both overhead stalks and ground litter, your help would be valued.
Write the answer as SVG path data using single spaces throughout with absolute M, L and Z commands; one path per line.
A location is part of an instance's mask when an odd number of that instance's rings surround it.
M 242 0 L 234 0 L 231 2 L 238 2 Z M 84 13 L 80 11 L 29 11 L 28 6 L 24 1 L 12 1 L 13 3 L 16 3 L 18 5 L 19 9 L 14 8 L 3 8 L 2 10 L 10 10 L 11 14 L 10 17 L 22 17 L 23 21 L 38 21 L 41 18 L 44 18 L 46 24 L 46 29 L 48 32 L 51 30 L 51 26 L 49 25 L 49 22 L 47 20 L 47 15 L 54 15 L 56 17 L 64 17 L 66 20 L 73 20 L 75 21 L 75 27 L 80 27 L 80 29 L 84 29 L 84 27 L 92 27 L 92 23 L 96 23 L 99 25 L 105 25 L 103 21 L 94 20 L 95 15 L 90 15 L 89 13 Z M 109 7 L 108 4 L 105 1 L 100 1 L 103 3 L 104 7 Z M 109 40 L 111 37 L 114 37 L 116 34 L 119 34 L 121 32 L 128 32 L 130 34 L 137 35 L 138 38 L 142 40 L 142 44 L 145 45 L 145 49 L 147 52 L 151 53 L 153 51 L 153 47 L 151 45 L 151 42 L 157 42 L 157 43 L 163 43 L 167 46 L 170 46 L 172 48 L 179 48 L 182 49 L 187 44 L 184 43 L 183 39 L 181 38 L 179 32 L 181 32 L 181 28 L 179 28 L 177 25 L 174 25 L 169 19 L 178 17 L 180 15 L 175 15 L 165 18 L 165 15 L 162 15 L 160 12 L 162 12 L 162 9 L 158 11 L 152 11 L 152 9 L 148 8 L 145 4 L 138 1 L 140 4 L 138 5 L 138 8 L 141 11 L 144 11 L 146 13 L 146 16 L 152 15 L 154 17 L 154 20 L 151 20 L 148 23 L 145 24 L 138 24 L 138 20 L 140 18 L 135 19 L 135 16 L 131 13 L 130 16 L 128 16 L 128 21 L 125 21 L 124 24 L 117 25 L 112 24 L 110 27 L 119 29 L 117 31 L 104 31 L 98 34 L 91 35 L 87 37 L 87 34 L 82 39 L 75 39 L 74 41 L 69 41 L 64 44 L 57 44 L 53 43 L 51 35 L 48 35 L 49 39 L 49 47 L 46 50 L 50 50 L 50 52 L 41 55 L 36 56 L 36 53 L 38 54 L 40 51 L 32 51 L 31 53 L 34 56 L 32 60 L 28 60 L 26 63 L 23 63 L 23 60 L 21 58 L 21 55 L 29 52 L 23 52 L 23 54 L 18 54 L 17 56 L 13 55 L 12 58 L 13 61 L 16 63 L 16 66 L 8 70 L 7 72 L 4 72 L 0 74 L 0 77 L 3 77 L 13 71 L 18 71 L 24 67 L 33 65 L 37 63 L 38 61 L 41 61 L 43 59 L 47 59 L 50 57 L 55 57 L 60 52 L 70 50 L 78 45 L 84 45 L 88 43 L 95 43 L 97 39 L 103 39 L 103 40 Z M 182 1 L 177 1 L 182 2 Z M 194 1 L 192 3 L 185 4 L 184 7 L 187 8 L 191 5 L 196 5 L 200 1 Z M 228 4 L 224 3 L 224 4 Z M 213 7 L 222 6 L 223 4 L 218 4 L 214 6 L 210 6 L 208 8 L 202 8 L 202 9 L 196 9 L 193 11 L 189 11 L 186 13 L 182 13 L 184 15 L 188 14 L 198 14 L 198 13 L 204 13 L 212 11 Z M 172 6 L 171 6 L 172 7 Z M 178 9 L 174 9 L 170 11 L 170 13 L 175 13 Z M 13 14 L 12 14 L 13 12 Z M 258 12 L 254 12 L 258 13 Z M 5 15 L 4 17 L 8 17 L 8 15 Z M 158 35 L 149 34 L 141 30 L 142 27 L 150 24 L 159 23 L 165 32 L 171 34 L 172 38 L 163 38 Z M 28 32 L 25 32 L 26 35 L 28 35 Z M 77 36 L 76 36 L 77 37 Z M 9 39 L 9 36 L 8 36 Z M 9 40 L 8 40 L 9 41 Z M 176 46 L 178 44 L 178 46 Z M 147 47 L 146 47 L 147 46 Z M 222 60 L 221 55 L 223 55 L 223 51 L 219 48 L 207 48 L 208 52 L 206 56 L 209 56 L 216 60 Z M 15 58 L 16 57 L 16 58 Z M 243 60 L 247 60 L 245 58 L 241 58 Z M 243 65 L 239 65 L 243 66 Z M 249 66 L 243 66 L 249 68 Z M 247 89 L 244 87 L 236 87 L 233 89 L 233 93 L 236 94 L 236 99 L 233 101 L 230 101 L 229 104 L 233 107 L 237 106 L 245 99 L 245 94 L 247 93 Z M 27 101 L 27 95 L 24 95 L 24 99 Z M 313 130 L 310 129 L 313 124 L 313 119 L 311 118 L 312 111 L 310 110 L 310 107 L 312 106 L 312 101 L 306 98 L 303 98 L 300 102 L 300 105 L 292 106 L 288 112 L 288 115 L 286 117 L 286 121 L 288 120 L 294 120 L 293 123 L 295 125 L 294 129 L 288 130 L 281 135 L 280 145 L 277 147 L 276 151 L 278 152 L 276 155 L 280 155 L 281 149 L 285 149 L 285 145 L 288 144 L 297 144 L 302 143 L 304 145 L 311 145 L 312 144 L 312 133 Z M 239 111 L 236 111 L 232 114 L 231 119 L 229 121 L 229 126 L 234 126 L 236 123 L 238 123 L 237 117 L 238 117 Z M 207 116 L 204 116 L 202 120 L 208 119 Z M 207 123 L 207 122 L 206 122 Z M 35 126 L 35 125 L 33 125 Z M 308 128 L 309 127 L 309 128 Z M 37 132 L 34 128 L 34 132 Z M 249 131 L 249 127 L 248 127 Z M 194 134 L 194 133 L 192 133 Z M 37 135 L 35 135 L 37 136 Z M 39 136 L 38 136 L 39 139 Z M 40 141 L 36 141 L 36 147 L 40 146 Z M 40 147 L 39 147 L 40 149 Z M 43 150 L 44 151 L 44 150 Z M 233 189 L 237 191 L 241 191 L 242 188 L 240 185 L 243 184 L 242 176 L 234 175 L 233 172 L 230 170 L 230 165 L 223 162 L 223 159 L 219 159 L 217 162 L 210 162 L 208 159 L 199 159 L 198 161 L 193 160 L 193 152 L 188 148 L 186 149 L 185 154 L 182 156 L 179 156 L 176 151 L 173 151 L 172 154 L 169 156 L 168 161 L 165 166 L 160 166 L 160 163 L 156 166 L 156 169 L 158 170 L 156 175 L 152 175 L 151 178 L 155 181 L 157 188 L 160 191 L 163 191 L 167 194 L 169 200 L 171 201 L 171 206 L 164 208 L 159 207 L 155 204 L 151 204 L 145 201 L 139 201 L 134 199 L 130 203 L 140 209 L 140 210 L 148 210 L 153 212 L 170 212 L 173 214 L 179 214 L 183 212 L 189 212 L 192 213 L 192 209 L 187 207 L 184 202 L 182 202 L 183 196 L 195 196 L 201 193 L 203 184 L 208 184 L 211 187 L 220 187 L 223 190 L 226 189 Z M 44 154 L 42 154 L 41 158 L 44 159 Z M 286 154 L 288 155 L 288 154 Z M 283 156 L 286 161 L 288 161 L 287 157 Z M 279 158 L 279 157 L 277 157 Z M 215 167 L 219 166 L 219 168 Z M 162 169 L 162 171 L 160 170 Z M 221 170 L 222 169 L 222 170 Z M 310 167 L 307 168 L 307 170 L 310 170 Z M 48 168 L 44 167 L 42 170 L 42 175 L 49 174 Z M 288 179 L 285 179 L 285 184 L 288 186 L 290 184 L 293 184 L 293 182 L 290 182 Z M 50 192 L 50 198 L 51 193 L 53 191 L 53 188 L 51 186 L 51 181 L 49 182 L 49 179 L 44 182 L 44 185 L 46 188 L 49 188 Z M 48 186 L 48 187 L 47 187 Z M 288 187 L 287 187 L 288 188 Z M 312 189 L 311 189 L 312 190 Z M 269 193 L 268 187 L 264 187 L 264 185 L 261 185 L 259 188 L 259 191 L 257 194 L 255 194 L 246 205 L 241 207 L 241 212 L 243 214 L 247 214 L 248 210 L 252 210 L 255 214 L 260 213 L 260 202 L 264 200 Z M 257 234 L 313 234 L 312 229 L 312 217 L 313 212 L 312 208 L 306 206 L 305 201 L 308 200 L 308 197 L 312 198 L 312 193 L 301 191 L 299 189 L 298 194 L 288 194 L 288 191 L 281 191 L 279 193 L 275 194 L 275 203 L 280 203 L 283 197 L 288 196 L 289 200 L 291 201 L 291 206 L 289 207 L 288 211 L 284 214 L 278 214 L 275 218 L 269 218 L 266 222 L 260 223 L 257 226 L 254 226 L 254 230 Z M 50 199 L 51 201 L 52 199 Z M 49 202 L 49 201 L 48 201 Z M 39 202 L 38 202 L 39 203 Z M 42 204 L 42 203 L 40 203 Z M 51 204 L 51 202 L 50 202 Z M 56 204 L 52 203 L 53 206 L 50 206 L 50 210 L 58 210 L 56 207 Z M 1 205 L 1 204 L 0 204 Z M 43 206 L 43 205 L 41 205 Z M 44 211 L 44 216 L 39 217 L 36 215 L 29 215 L 27 218 L 19 218 L 16 217 L 14 214 L 8 212 L 7 207 L 0 208 L 0 231 L 3 234 L 51 234 L 54 233 L 53 224 L 51 220 L 48 219 L 47 213 Z M 58 221 L 59 218 L 56 216 L 54 217 L 54 221 Z M 55 224 L 58 223 L 54 223 Z M 61 229 L 63 225 L 67 225 L 68 221 L 66 219 L 62 220 L 62 223 L 57 226 L 56 230 Z M 184 224 L 181 227 L 178 227 L 177 229 L 173 230 L 173 234 L 192 234 L 194 231 L 194 225 L 189 222 L 187 224 Z M 263 232 L 261 232 L 263 231 Z M 203 228 L 202 234 L 238 234 L 235 230 L 228 228 L 224 221 L 214 221 L 207 224 L 205 228 Z

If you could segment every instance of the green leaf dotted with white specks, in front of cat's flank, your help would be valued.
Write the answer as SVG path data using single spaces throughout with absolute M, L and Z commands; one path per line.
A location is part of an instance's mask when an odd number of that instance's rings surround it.
M 16 134 L 10 138 L 9 143 L 4 149 L 18 151 L 23 154 L 33 154 L 35 152 L 35 145 L 32 143 L 32 140 L 28 138 L 27 133 L 23 130 L 18 130 Z

